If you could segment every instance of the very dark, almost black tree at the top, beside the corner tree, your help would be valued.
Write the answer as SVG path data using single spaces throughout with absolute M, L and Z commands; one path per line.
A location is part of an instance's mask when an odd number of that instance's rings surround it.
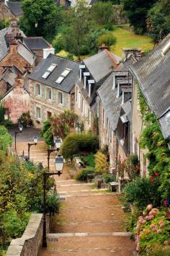
M 146 32 L 146 17 L 148 10 L 156 0 L 122 0 L 123 9 L 137 34 Z

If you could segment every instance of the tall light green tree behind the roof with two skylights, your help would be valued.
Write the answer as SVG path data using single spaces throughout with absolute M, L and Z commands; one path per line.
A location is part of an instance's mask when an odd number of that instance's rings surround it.
M 68 30 L 63 34 L 64 40 L 67 42 L 65 50 L 80 59 L 81 48 L 88 45 L 92 28 L 90 9 L 86 5 L 86 1 L 80 0 L 67 14 L 65 22 Z

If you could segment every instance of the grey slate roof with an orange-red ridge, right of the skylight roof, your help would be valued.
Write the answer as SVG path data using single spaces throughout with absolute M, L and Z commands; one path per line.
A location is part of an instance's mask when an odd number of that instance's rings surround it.
M 112 58 L 109 55 L 112 56 Z M 112 71 L 112 66 L 115 66 L 114 60 L 119 63 L 120 57 L 109 53 L 108 50 L 102 50 L 102 52 L 94 56 L 85 58 L 84 64 L 94 80 L 99 82 Z

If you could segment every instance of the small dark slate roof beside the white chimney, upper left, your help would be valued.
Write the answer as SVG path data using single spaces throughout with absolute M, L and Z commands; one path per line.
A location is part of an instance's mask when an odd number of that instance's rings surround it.
M 51 47 L 43 37 L 25 37 L 23 38 L 23 43 L 30 50 L 42 50 Z

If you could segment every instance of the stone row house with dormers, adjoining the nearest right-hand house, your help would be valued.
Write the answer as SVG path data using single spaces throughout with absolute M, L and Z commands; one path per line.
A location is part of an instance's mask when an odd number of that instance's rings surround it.
M 97 90 L 99 109 L 99 143 L 108 146 L 110 168 L 115 169 L 116 158 L 121 161 L 130 154 L 130 123 L 133 79 L 128 71 L 130 56 L 109 75 Z

